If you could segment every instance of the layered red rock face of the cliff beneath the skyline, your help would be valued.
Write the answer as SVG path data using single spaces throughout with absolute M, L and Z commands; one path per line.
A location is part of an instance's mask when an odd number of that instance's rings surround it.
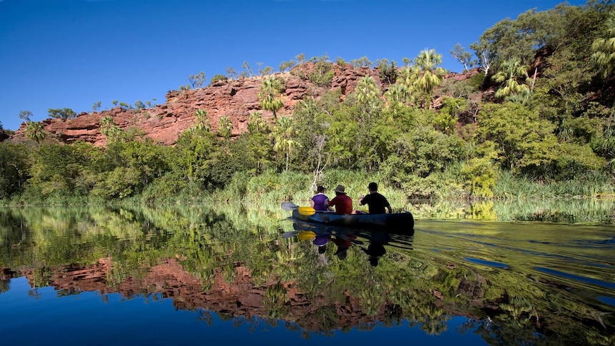
M 295 66 L 290 73 L 278 73 L 275 76 L 283 78 L 286 89 L 283 93 L 284 106 L 278 111 L 278 116 L 290 114 L 298 101 L 305 96 L 322 96 L 325 88 L 315 86 L 308 78 L 315 71 L 314 63 L 304 63 Z M 367 67 L 354 68 L 350 64 L 333 64 L 335 76 L 332 78 L 331 90 L 340 89 L 341 98 L 355 91 L 360 78 L 372 76 L 377 85 L 382 88 L 377 69 Z M 459 77 L 461 76 L 461 77 Z M 452 73 L 449 78 L 467 78 L 465 75 Z M 233 81 L 216 81 L 205 88 L 188 91 L 169 91 L 166 102 L 152 108 L 138 110 L 113 108 L 95 113 L 80 113 L 70 120 L 49 118 L 42 121 L 44 130 L 51 136 L 65 143 L 85 141 L 95 146 L 105 146 L 106 138 L 99 130 L 101 119 L 111 116 L 113 122 L 123 130 L 131 128 L 151 138 L 155 143 L 173 145 L 178 136 L 192 126 L 195 121 L 195 111 L 207 111 L 212 131 L 218 129 L 220 118 L 228 116 L 233 123 L 232 136 L 238 136 L 248 129 L 250 113 L 260 111 L 265 121 L 273 121 L 273 113 L 264 111 L 258 101 L 258 92 L 263 81 L 262 76 L 251 78 L 240 77 Z M 15 131 L 14 140 L 25 138 L 25 123 Z

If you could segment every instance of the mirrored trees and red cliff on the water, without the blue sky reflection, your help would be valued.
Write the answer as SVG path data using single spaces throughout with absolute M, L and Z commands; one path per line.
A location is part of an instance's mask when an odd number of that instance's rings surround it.
M 462 317 L 457 342 L 469 333 L 487 343 L 615 342 L 612 226 L 418 220 L 400 235 L 285 216 L 203 205 L 0 209 L 0 304 L 25 278 L 39 300 L 49 288 L 172 300 L 206 323 L 303 337 L 360 340 L 355 332 L 379 326 L 444 335 Z

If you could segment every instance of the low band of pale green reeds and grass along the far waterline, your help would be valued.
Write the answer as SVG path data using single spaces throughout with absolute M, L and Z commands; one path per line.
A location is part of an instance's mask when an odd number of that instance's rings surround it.
M 365 208 L 357 204 L 358 195 L 364 194 L 367 182 L 372 175 L 367 173 L 347 173 L 336 171 L 332 176 L 347 177 L 347 191 L 353 198 L 356 209 Z M 245 178 L 245 177 L 244 177 Z M 142 205 L 143 208 L 203 208 L 216 210 L 216 213 L 235 215 L 239 213 L 254 213 L 255 215 L 278 215 L 278 218 L 288 216 L 280 209 L 282 201 L 293 201 L 300 205 L 308 205 L 312 197 L 309 185 L 310 175 L 293 172 L 259 175 L 242 180 L 233 178 L 226 188 L 207 191 L 197 188 L 186 189 L 175 195 L 157 196 L 154 198 L 147 191 L 129 198 L 102 200 L 91 195 L 56 195 L 39 200 L 24 200 L 24 196 L 16 196 L 11 200 L 0 200 L 1 207 L 12 208 L 54 208 L 54 207 L 85 207 L 96 206 L 127 206 L 133 208 Z M 328 181 L 328 180 L 327 180 Z M 331 180 L 327 187 L 335 186 L 338 180 Z M 615 223 L 615 195 L 612 186 L 605 182 L 599 185 L 581 186 L 579 182 L 566 182 L 566 186 L 574 187 L 562 195 L 554 195 L 553 185 L 545 187 L 529 180 L 506 180 L 507 187 L 516 191 L 493 198 L 444 198 L 409 199 L 401 190 L 395 190 L 387 184 L 382 185 L 380 192 L 387 195 L 393 210 L 410 211 L 417 220 L 477 220 L 500 222 L 544 221 L 553 223 Z M 517 183 L 516 185 L 513 184 Z M 579 195 L 579 191 L 595 191 L 595 195 Z M 522 192 L 525 191 L 525 192 Z M 539 193 L 537 193 L 539 191 Z M 566 191 L 559 188 L 557 191 Z M 450 190 L 445 190 L 451 193 Z M 328 191 L 325 191 L 328 193 Z M 227 216 L 228 216 L 227 215 Z M 257 217 L 258 218 L 258 217 Z

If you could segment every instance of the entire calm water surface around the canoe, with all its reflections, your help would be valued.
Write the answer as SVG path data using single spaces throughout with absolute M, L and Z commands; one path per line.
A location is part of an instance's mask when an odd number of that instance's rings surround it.
M 615 209 L 574 203 L 409 205 L 412 235 L 273 208 L 4 208 L 1 340 L 614 345 Z

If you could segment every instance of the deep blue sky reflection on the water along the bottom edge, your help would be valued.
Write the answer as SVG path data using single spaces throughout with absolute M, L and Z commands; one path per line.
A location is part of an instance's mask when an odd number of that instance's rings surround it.
M 258 317 L 221 320 L 212 312 L 210 325 L 200 320 L 201 310 L 177 310 L 170 298 L 81 292 L 59 297 L 54 288 L 39 288 L 36 296 L 26 278 L 11 280 L 11 289 L 0 294 L 0 332 L 3 345 L 487 345 L 473 332 L 458 328 L 467 317 L 452 317 L 448 329 L 434 337 L 419 326 L 402 321 L 395 327 L 377 324 L 372 330 L 352 328 L 332 335 L 287 330 L 284 321 L 272 326 Z M 56 321 L 56 322 L 50 322 Z M 240 321 L 240 323 L 238 323 Z M 35 333 L 32 331 L 36 330 Z M 474 330 L 474 329 L 472 329 Z

